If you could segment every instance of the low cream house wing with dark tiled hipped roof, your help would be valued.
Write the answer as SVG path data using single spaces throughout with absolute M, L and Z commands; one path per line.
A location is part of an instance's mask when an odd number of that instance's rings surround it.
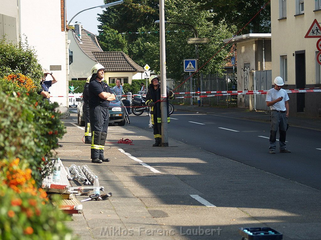
M 96 60 L 105 67 L 105 82 L 132 83 L 133 79 L 144 79 L 144 69 L 124 52 L 92 52 Z

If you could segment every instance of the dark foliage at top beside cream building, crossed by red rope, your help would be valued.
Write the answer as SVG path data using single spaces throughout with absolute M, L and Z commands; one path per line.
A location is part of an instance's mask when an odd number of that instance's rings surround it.
M 225 21 L 228 25 L 236 25 L 241 29 L 251 20 L 256 13 L 269 0 L 192 0 L 199 4 L 200 10 L 213 12 L 214 25 Z M 247 33 L 270 33 L 271 32 L 271 4 L 266 7 L 247 25 L 241 34 Z

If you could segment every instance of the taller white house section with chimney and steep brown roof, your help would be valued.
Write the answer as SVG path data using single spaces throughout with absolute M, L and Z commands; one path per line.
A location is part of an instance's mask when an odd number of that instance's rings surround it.
M 69 80 L 86 80 L 91 76 L 91 68 L 97 63 L 92 52 L 102 52 L 96 36 L 83 29 L 80 24 L 70 26 Z

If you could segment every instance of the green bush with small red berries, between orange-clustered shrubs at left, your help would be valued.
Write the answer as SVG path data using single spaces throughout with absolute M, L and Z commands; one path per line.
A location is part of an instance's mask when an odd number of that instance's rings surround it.
M 38 185 L 42 177 L 39 170 L 46 164 L 44 156 L 51 156 L 57 138 L 65 133 L 60 114 L 55 111 L 57 106 L 32 91 L 0 80 L 0 157 L 27 161 Z

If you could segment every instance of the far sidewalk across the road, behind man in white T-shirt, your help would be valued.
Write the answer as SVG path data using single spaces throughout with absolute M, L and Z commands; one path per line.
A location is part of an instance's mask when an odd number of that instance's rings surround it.
M 248 108 L 198 107 L 197 105 L 175 105 L 175 111 L 198 112 L 230 118 L 270 123 L 271 111 L 249 111 Z M 308 128 L 321 131 L 321 117 L 318 119 L 289 116 L 288 123 L 293 127 Z

